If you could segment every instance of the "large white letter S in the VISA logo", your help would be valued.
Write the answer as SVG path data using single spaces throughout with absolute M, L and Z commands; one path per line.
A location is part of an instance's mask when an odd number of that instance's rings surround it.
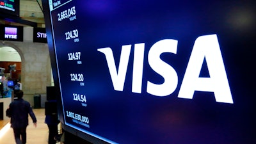
M 154 84 L 148 81 L 148 93 L 157 96 L 166 96 L 173 93 L 177 88 L 178 76 L 176 71 L 160 58 L 160 55 L 163 52 L 172 52 L 173 54 L 176 54 L 177 45 L 177 40 L 166 39 L 156 42 L 156 44 L 150 48 L 150 51 L 148 52 L 148 63 L 157 74 L 163 76 L 164 83 Z

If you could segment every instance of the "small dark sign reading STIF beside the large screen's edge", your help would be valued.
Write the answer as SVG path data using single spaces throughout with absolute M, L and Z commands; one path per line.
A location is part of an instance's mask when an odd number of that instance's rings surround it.
M 34 28 L 33 42 L 47 43 L 47 36 L 45 28 Z

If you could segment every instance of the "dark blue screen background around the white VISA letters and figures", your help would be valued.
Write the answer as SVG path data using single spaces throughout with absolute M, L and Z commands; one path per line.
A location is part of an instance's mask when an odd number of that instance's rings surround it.
M 58 21 L 58 13 L 76 6 L 76 20 Z M 53 10 L 52 24 L 65 124 L 115 143 L 256 143 L 254 1 L 71 1 Z M 79 42 L 65 40 L 78 29 Z M 214 93 L 177 97 L 196 38 L 218 36 L 234 104 L 216 102 Z M 147 93 L 147 81 L 163 83 L 147 54 L 163 39 L 178 40 L 177 54 L 161 59 L 179 77 L 171 95 Z M 134 44 L 145 43 L 141 93 L 132 93 Z M 124 90 L 115 91 L 99 48 L 111 47 L 118 68 L 122 45 L 132 44 Z M 81 52 L 81 65 L 68 61 Z M 84 86 L 70 81 L 83 74 Z M 209 77 L 204 61 L 200 77 Z M 72 93 L 86 95 L 84 107 Z M 66 111 L 88 116 L 90 128 L 76 124 Z M 79 127 L 79 128 L 78 128 Z

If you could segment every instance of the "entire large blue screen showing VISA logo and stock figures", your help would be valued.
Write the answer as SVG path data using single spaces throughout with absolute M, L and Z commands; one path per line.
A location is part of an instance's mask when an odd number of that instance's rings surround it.
M 108 143 L 256 143 L 254 1 L 49 9 L 65 125 Z

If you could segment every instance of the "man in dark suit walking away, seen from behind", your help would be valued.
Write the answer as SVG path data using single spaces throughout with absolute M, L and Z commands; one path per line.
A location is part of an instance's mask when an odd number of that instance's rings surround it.
M 9 106 L 9 116 L 11 118 L 11 127 L 13 128 L 15 141 L 17 144 L 25 144 L 27 141 L 26 128 L 28 126 L 28 115 L 31 116 L 33 124 L 36 127 L 36 116 L 28 101 L 22 99 L 23 92 L 19 90 L 16 93 L 18 99 L 13 100 Z M 21 140 L 20 140 L 21 136 Z

